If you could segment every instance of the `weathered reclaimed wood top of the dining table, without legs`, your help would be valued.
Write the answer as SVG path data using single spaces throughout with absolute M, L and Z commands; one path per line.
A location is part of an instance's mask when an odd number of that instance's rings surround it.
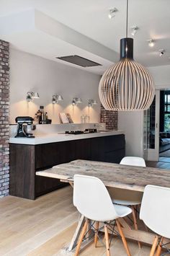
M 36 175 L 53 177 L 65 182 L 73 182 L 73 176 L 76 174 L 98 177 L 108 187 L 135 191 L 143 191 L 149 184 L 170 187 L 170 170 L 152 167 L 75 160 L 36 172 Z

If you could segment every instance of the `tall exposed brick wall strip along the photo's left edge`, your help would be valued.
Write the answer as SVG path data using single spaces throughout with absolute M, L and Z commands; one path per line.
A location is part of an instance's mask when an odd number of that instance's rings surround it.
M 9 43 L 0 40 L 0 198 L 9 194 Z

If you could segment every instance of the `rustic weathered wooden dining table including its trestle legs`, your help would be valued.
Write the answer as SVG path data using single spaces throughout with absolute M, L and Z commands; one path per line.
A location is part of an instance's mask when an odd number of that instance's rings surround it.
M 77 174 L 98 177 L 107 187 L 117 187 L 125 190 L 143 192 L 146 185 L 149 184 L 170 187 L 170 170 L 152 167 L 135 167 L 107 162 L 75 160 L 66 164 L 59 164 L 44 171 L 36 172 L 36 175 L 53 177 L 62 182 L 68 182 L 71 186 L 73 186 L 73 176 Z M 73 239 L 68 247 L 69 251 L 74 250 L 76 247 L 81 228 L 84 225 L 84 220 L 84 216 L 81 216 Z M 135 230 L 125 219 L 121 219 L 121 224 L 126 238 L 146 244 L 153 243 L 155 234 L 152 232 L 140 229 Z M 169 240 L 167 240 L 167 242 L 169 242 Z M 86 246 L 86 243 L 84 246 Z

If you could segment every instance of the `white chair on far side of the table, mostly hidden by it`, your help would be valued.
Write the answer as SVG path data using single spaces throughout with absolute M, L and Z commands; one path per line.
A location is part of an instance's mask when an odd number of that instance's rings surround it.
M 137 157 L 137 156 L 125 156 L 120 164 L 124 165 L 130 165 L 130 166 L 136 166 L 136 167 L 146 167 L 146 162 L 142 157 Z M 135 226 L 135 230 L 138 230 L 138 224 L 137 224 L 137 219 L 135 216 L 135 207 L 138 206 L 141 203 L 143 193 L 141 192 L 134 192 L 130 190 L 122 190 L 119 188 L 113 188 L 109 187 L 108 188 L 109 194 L 112 198 L 113 203 L 117 203 L 122 206 L 130 206 L 133 211 L 133 223 Z M 140 242 L 138 242 L 139 247 L 140 247 Z

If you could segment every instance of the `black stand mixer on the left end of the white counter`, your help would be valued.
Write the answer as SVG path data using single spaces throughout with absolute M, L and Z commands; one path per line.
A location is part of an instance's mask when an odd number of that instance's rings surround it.
M 15 138 L 35 138 L 32 133 L 27 133 L 27 131 L 25 131 L 27 125 L 32 125 L 33 120 L 34 119 L 30 116 L 18 116 L 15 118 L 15 122 L 18 124 L 17 135 Z

